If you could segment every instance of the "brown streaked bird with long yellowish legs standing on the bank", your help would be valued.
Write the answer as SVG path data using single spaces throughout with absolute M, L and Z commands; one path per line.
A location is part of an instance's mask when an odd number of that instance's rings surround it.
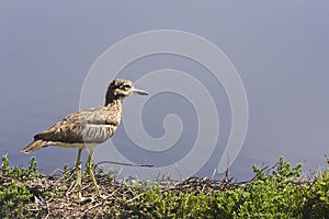
M 86 162 L 86 169 L 91 177 L 97 196 L 102 197 L 91 169 L 92 155 L 95 148 L 110 139 L 115 132 L 122 117 L 123 100 L 133 94 L 148 95 L 146 91 L 135 89 L 134 83 L 127 79 L 114 79 L 107 88 L 104 106 L 91 107 L 69 114 L 63 120 L 35 135 L 34 141 L 26 146 L 22 152 L 30 153 L 48 146 L 77 148 L 76 183 L 78 198 L 82 201 L 81 153 L 87 148 L 89 157 Z

